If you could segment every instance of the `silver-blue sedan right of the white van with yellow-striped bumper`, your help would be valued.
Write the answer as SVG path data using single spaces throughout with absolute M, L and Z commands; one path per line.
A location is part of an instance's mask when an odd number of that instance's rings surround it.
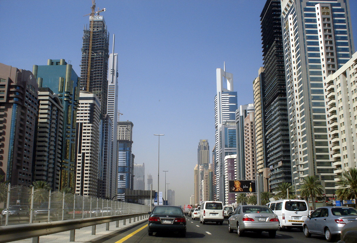
M 326 206 L 317 208 L 307 217 L 303 223 L 305 237 L 318 234 L 325 236 L 326 241 L 333 241 L 341 234 L 343 226 L 357 220 L 357 210 L 353 207 Z

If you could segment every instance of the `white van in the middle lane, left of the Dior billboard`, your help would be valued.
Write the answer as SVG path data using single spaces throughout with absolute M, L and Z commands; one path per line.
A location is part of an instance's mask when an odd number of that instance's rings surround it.
M 200 223 L 216 222 L 223 224 L 223 203 L 218 201 L 205 201 L 201 204 Z

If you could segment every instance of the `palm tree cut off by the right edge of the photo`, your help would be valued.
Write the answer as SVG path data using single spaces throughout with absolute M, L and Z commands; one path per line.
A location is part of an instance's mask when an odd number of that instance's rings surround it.
M 350 168 L 338 176 L 336 195 L 343 200 L 355 199 L 357 208 L 357 168 Z

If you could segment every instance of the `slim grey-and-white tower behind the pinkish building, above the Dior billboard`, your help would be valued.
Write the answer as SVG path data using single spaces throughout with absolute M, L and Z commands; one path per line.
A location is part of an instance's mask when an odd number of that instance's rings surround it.
M 244 144 L 244 120 L 247 115 L 254 111 L 254 104 L 240 105 L 236 110 L 236 132 L 237 132 L 237 179 L 245 180 L 245 144 Z

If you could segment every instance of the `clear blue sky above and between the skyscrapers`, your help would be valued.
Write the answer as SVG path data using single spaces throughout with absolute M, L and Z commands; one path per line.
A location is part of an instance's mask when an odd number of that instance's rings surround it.
M 131 121 L 136 164 L 157 190 L 189 204 L 200 139 L 215 143 L 216 69 L 233 74 L 238 105 L 253 102 L 262 66 L 260 14 L 266 0 L 97 0 L 119 54 L 120 121 Z M 0 0 L 0 62 L 19 69 L 65 59 L 80 75 L 91 0 Z M 357 1 L 350 1 L 356 45 Z M 159 136 L 160 136 L 160 169 Z M 210 155 L 212 159 L 212 155 Z M 145 183 L 146 184 L 146 183 Z

